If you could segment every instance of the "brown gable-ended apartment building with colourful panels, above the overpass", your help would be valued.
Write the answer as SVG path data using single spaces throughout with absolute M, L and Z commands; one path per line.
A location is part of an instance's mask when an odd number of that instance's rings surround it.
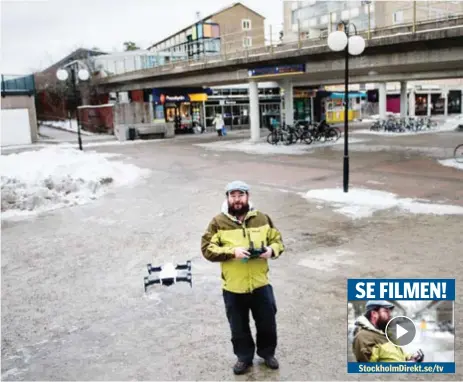
M 166 37 L 148 48 L 155 52 L 183 53 L 194 59 L 203 55 L 232 53 L 265 44 L 265 17 L 241 3 L 234 3 Z

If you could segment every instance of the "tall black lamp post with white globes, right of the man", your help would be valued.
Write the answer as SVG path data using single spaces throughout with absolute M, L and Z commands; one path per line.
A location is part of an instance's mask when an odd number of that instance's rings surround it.
M 354 28 L 354 34 L 349 35 L 350 28 Z M 345 52 L 344 70 L 344 192 L 349 191 L 349 54 L 358 56 L 365 49 L 365 40 L 357 34 L 357 28 L 349 21 L 341 21 L 338 30 L 328 35 L 328 46 L 332 51 Z

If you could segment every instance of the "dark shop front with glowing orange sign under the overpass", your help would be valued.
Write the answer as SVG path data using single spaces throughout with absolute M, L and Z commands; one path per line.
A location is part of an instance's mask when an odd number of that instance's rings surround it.
M 153 89 L 152 102 L 155 119 L 175 124 L 176 133 L 193 133 L 204 126 L 204 103 L 208 89 L 166 88 Z

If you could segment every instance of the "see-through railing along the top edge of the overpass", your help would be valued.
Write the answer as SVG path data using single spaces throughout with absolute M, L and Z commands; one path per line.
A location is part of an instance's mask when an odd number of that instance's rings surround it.
M 456 25 L 463 25 L 463 12 L 424 18 L 420 21 L 412 20 L 396 23 L 395 25 L 381 28 L 371 27 L 370 25 L 370 27 L 358 28 L 357 32 L 365 39 L 369 40 L 378 37 L 416 33 Z M 265 54 L 271 55 L 278 52 L 289 52 L 327 44 L 328 29 L 321 32 L 318 36 L 312 37 L 309 33 L 304 31 L 305 29 L 306 28 L 298 23 L 297 31 L 289 33 L 286 36 L 283 34 L 282 25 L 269 25 L 264 28 L 253 28 L 250 31 L 224 34 L 220 36 L 220 50 L 218 52 L 210 52 L 196 57 L 189 57 L 186 52 L 184 56 L 179 56 L 177 53 L 177 57 L 172 57 L 172 60 L 168 60 L 168 62 L 162 65 L 153 65 L 151 67 L 147 67 L 143 63 L 143 60 L 137 61 L 136 56 L 114 60 L 112 66 L 119 69 L 106 71 L 105 77 L 116 77 L 127 73 L 145 71 L 147 69 L 150 70 L 150 73 L 162 74 L 163 72 L 177 71 L 186 67 L 194 68 L 208 63 L 226 62 L 228 60 L 244 59 Z M 334 30 L 335 25 L 330 25 L 329 29 Z M 201 49 L 200 44 L 202 43 L 204 43 L 204 41 L 186 44 L 185 50 L 194 52 L 196 49 Z M 143 56 L 141 55 L 140 57 Z M 130 61 L 129 65 L 126 60 Z

